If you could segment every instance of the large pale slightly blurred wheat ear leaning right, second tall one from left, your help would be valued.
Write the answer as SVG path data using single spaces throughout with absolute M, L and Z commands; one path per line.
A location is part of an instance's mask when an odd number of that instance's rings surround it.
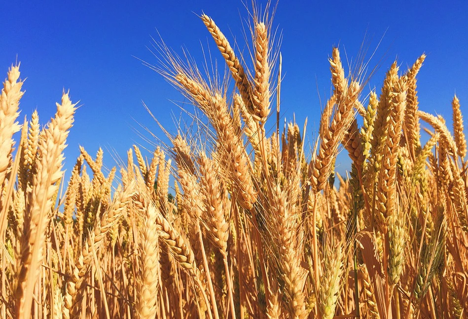
M 32 291 L 44 258 L 45 230 L 51 218 L 53 196 L 58 191 L 57 182 L 62 177 L 63 151 L 73 123 L 75 104 L 68 93 L 62 96 L 62 104 L 57 103 L 57 113 L 49 126 L 41 133 L 32 190 L 28 193 L 28 206 L 25 212 L 21 259 L 18 261 L 18 286 L 16 289 L 17 313 L 29 318 Z

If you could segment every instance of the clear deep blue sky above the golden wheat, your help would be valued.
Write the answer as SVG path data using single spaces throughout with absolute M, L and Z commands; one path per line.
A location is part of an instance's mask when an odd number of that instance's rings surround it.
M 134 56 L 157 63 L 146 49 L 151 36 L 158 38 L 157 32 L 176 52 L 183 45 L 195 58 L 202 57 L 200 43 L 208 41 L 215 50 L 196 15 L 202 11 L 244 48 L 246 9 L 240 0 L 2 1 L 0 74 L 4 79 L 18 57 L 22 78 L 28 78 L 22 117 L 29 118 L 37 108 L 41 124 L 53 116 L 62 89 L 70 89 L 72 100 L 80 100 L 82 107 L 68 140 L 65 168 L 70 172 L 78 145 L 93 155 L 103 147 L 110 166 L 113 160 L 106 149 L 125 156 L 135 142 L 148 145 L 134 131 L 137 122 L 163 137 L 142 100 L 169 132 L 177 131 L 172 114 L 178 118 L 180 109 L 172 101 L 182 101 L 180 93 Z M 340 44 L 343 57 L 344 49 L 356 57 L 367 32 L 371 50 L 385 33 L 371 65 L 387 57 L 369 85 L 380 89 L 395 58 L 406 69 L 425 52 L 418 80 L 420 108 L 442 114 L 451 125 L 450 101 L 456 92 L 467 123 L 467 16 L 468 1 L 280 0 L 274 25 L 284 37 L 285 116 L 291 120 L 294 112 L 300 125 L 307 116 L 308 131 L 317 132 L 321 109 L 317 87 L 322 98 L 330 91 L 331 48 Z M 216 58 L 221 59 L 217 51 Z M 344 158 L 338 160 L 339 171 L 347 166 Z

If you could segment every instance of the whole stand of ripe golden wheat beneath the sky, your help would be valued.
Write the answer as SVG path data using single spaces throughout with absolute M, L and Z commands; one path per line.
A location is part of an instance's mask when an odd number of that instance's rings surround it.
M 281 62 L 264 17 L 252 21 L 248 70 L 201 16 L 235 88 L 168 54 L 163 75 L 206 125 L 170 136 L 149 159 L 134 146 L 118 181 L 115 168 L 103 172 L 101 149 L 93 159 L 81 148 L 64 183 L 75 105 L 64 93 L 47 125 L 36 112 L 19 125 L 23 81 L 19 66 L 9 70 L 0 97 L 1 318 L 468 318 L 457 97 L 453 134 L 418 110 L 422 55 L 406 72 L 394 63 L 380 96 L 361 103 L 359 81 L 333 48 L 333 90 L 306 159 L 299 126 L 280 130 Z M 343 147 L 352 170 L 335 187 Z

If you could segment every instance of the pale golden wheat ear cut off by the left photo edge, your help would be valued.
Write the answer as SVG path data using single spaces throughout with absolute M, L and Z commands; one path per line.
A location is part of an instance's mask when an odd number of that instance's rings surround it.
M 0 188 L 5 180 L 10 154 L 14 145 L 13 134 L 20 130 L 16 122 L 18 108 L 24 91 L 21 91 L 23 81 L 19 80 L 19 65 L 8 70 L 8 77 L 3 82 L 0 95 Z

